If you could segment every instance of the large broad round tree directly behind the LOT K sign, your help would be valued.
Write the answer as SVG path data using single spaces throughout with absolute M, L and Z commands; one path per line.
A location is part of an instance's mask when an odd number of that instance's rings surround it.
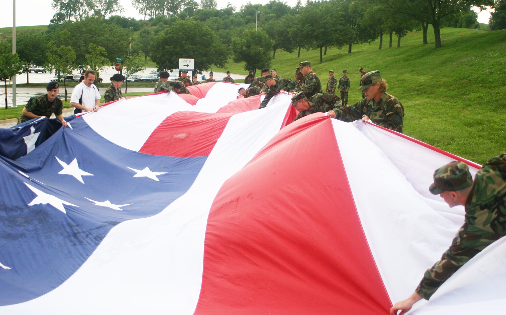
M 182 32 L 184 30 L 184 33 Z M 224 67 L 228 49 L 204 23 L 178 20 L 159 32 L 151 46 L 151 60 L 159 69 L 177 69 L 179 58 L 195 59 L 195 70 L 205 71 L 213 64 Z

